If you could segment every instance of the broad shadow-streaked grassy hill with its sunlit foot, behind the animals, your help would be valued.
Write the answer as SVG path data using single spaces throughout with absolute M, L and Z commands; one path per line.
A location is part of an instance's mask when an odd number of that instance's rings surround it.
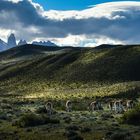
M 4 93 L 47 96 L 48 92 L 50 96 L 63 90 L 67 97 L 92 97 L 139 87 L 139 45 L 96 49 L 24 45 L 0 53 L 0 60 L 0 91 Z

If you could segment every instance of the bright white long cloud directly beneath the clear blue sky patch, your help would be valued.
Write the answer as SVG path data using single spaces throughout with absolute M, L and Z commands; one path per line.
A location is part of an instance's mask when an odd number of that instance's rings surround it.
M 130 10 L 140 10 L 140 2 L 124 1 L 124 2 L 109 2 L 90 6 L 90 8 L 82 11 L 45 11 L 43 14 L 49 19 L 64 20 L 69 18 L 88 19 L 106 17 L 109 19 L 124 18 L 123 16 L 115 15 L 114 12 L 131 12 Z

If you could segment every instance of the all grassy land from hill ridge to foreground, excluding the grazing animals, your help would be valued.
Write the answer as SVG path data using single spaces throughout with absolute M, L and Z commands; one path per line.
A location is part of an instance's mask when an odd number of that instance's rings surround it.
M 138 103 L 139 97 L 139 45 L 25 45 L 0 53 L 2 139 L 66 140 L 75 134 L 74 139 L 139 140 L 139 127 L 123 124 L 123 114 L 108 108 L 109 100 L 136 99 Z M 95 98 L 102 101 L 104 110 L 89 112 Z M 50 118 L 44 109 L 48 100 L 56 111 Z M 66 100 L 72 100 L 72 112 L 65 111 Z M 139 112 L 135 112 L 126 112 L 125 121 L 137 123 Z

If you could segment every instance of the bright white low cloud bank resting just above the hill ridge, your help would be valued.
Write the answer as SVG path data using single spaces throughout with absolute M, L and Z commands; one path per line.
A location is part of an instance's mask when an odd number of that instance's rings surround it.
M 36 38 L 36 41 L 43 41 L 45 38 Z M 65 38 L 48 38 L 60 46 L 75 46 L 75 47 L 96 47 L 101 44 L 125 44 L 123 41 L 111 39 L 105 36 L 86 36 L 86 35 L 68 35 Z

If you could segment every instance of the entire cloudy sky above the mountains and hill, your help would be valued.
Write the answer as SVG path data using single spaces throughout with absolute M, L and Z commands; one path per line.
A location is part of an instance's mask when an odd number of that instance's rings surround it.
M 0 0 L 0 39 L 95 47 L 140 44 L 140 1 Z

